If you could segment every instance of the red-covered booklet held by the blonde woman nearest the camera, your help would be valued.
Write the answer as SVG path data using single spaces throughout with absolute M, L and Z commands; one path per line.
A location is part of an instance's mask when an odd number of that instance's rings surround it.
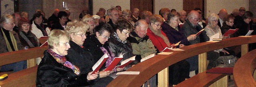
M 94 66 L 92 66 L 92 70 L 93 72 L 91 73 L 94 74 L 95 72 L 98 72 L 100 70 L 100 68 L 103 66 L 103 64 L 107 61 L 108 59 L 108 54 L 104 54 L 100 60 L 98 60 L 98 62 L 96 62 L 96 64 L 94 64 Z

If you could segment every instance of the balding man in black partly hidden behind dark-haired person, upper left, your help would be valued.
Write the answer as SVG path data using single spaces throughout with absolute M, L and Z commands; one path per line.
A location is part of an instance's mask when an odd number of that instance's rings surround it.
M 49 21 L 48 27 L 51 27 L 54 23 L 58 22 L 59 12 L 60 12 L 59 9 L 55 9 L 53 14 L 48 18 L 48 21 Z

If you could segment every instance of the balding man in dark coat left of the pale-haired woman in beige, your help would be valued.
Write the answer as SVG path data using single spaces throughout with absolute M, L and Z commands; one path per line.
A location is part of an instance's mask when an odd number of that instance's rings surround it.
M 192 10 L 188 14 L 186 22 L 182 26 L 185 37 L 190 35 L 194 35 L 202 30 L 202 27 L 198 24 L 200 21 L 200 14 L 198 11 Z M 196 37 L 196 39 L 189 41 L 190 44 L 197 44 L 209 41 L 209 37 L 206 35 L 206 31 L 202 31 L 200 35 Z M 218 52 L 210 51 L 207 52 L 207 60 L 209 60 L 209 64 L 207 69 L 211 69 L 216 66 L 216 60 L 219 57 Z M 190 72 L 196 70 L 198 73 L 198 56 L 193 56 L 191 58 L 186 59 L 190 63 Z

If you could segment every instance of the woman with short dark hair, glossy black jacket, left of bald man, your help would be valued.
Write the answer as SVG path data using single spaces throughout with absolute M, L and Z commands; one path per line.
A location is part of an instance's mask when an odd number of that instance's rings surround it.
M 123 59 L 118 64 L 120 65 L 122 61 L 134 56 L 132 54 L 132 45 L 130 41 L 127 40 L 133 26 L 126 19 L 118 19 L 115 27 L 114 32 L 110 35 L 109 46 L 114 56 L 117 57 L 120 53 L 124 54 Z M 136 62 L 126 66 L 125 70 L 130 68 L 132 64 L 136 64 Z

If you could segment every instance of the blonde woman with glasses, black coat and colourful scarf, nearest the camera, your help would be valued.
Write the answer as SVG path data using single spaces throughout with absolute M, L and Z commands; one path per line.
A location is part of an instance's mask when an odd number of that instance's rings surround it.
M 78 87 L 94 83 L 98 72 L 83 73 L 77 65 L 66 60 L 70 48 L 70 35 L 66 31 L 52 30 L 47 42 L 49 49 L 44 51 L 44 58 L 38 65 L 36 87 Z

